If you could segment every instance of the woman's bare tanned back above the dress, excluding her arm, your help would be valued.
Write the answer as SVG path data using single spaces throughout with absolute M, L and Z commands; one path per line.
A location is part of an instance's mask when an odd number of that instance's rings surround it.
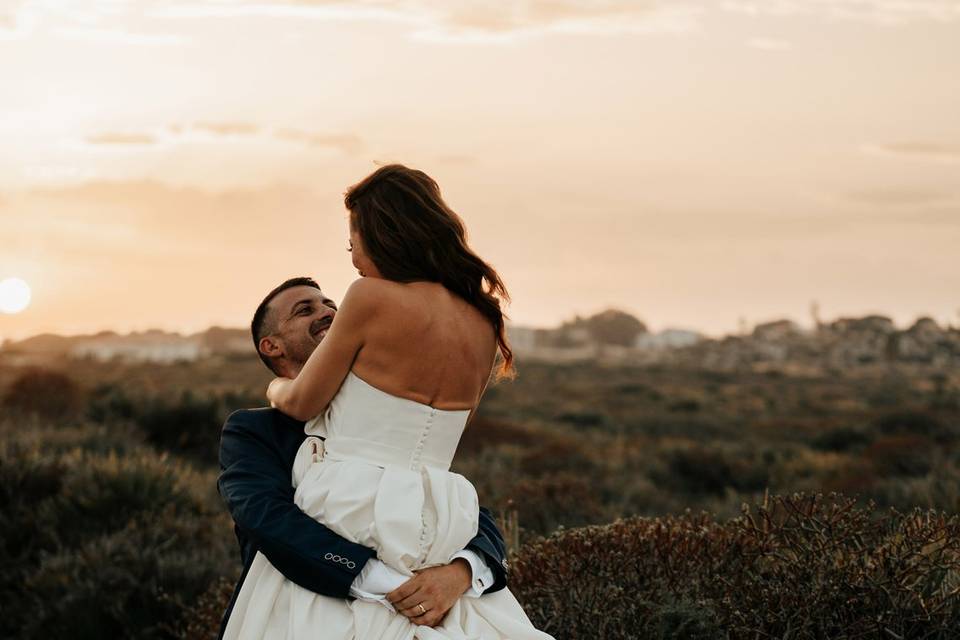
M 496 357 L 490 321 L 435 282 L 377 279 L 383 296 L 353 372 L 367 383 L 437 409 L 474 409 Z

